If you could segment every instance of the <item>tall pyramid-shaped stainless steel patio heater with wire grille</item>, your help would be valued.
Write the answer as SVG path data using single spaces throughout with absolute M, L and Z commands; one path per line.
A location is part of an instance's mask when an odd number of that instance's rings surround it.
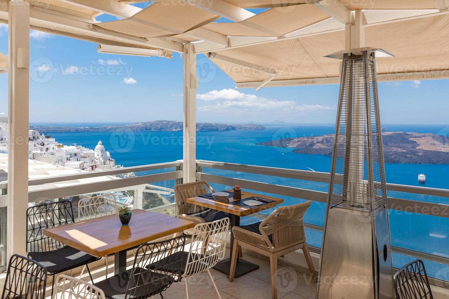
M 317 299 L 393 298 L 374 48 L 346 50 L 326 208 Z

